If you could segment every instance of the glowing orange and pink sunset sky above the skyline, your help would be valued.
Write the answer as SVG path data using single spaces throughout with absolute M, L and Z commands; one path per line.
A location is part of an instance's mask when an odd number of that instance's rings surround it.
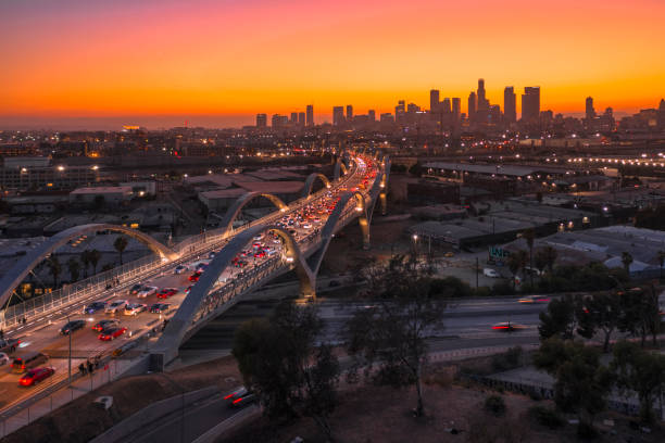
M 665 97 L 664 24 L 663 0 L 0 0 L 0 127 L 322 122 L 430 88 L 465 112 L 478 77 L 502 107 L 630 113 Z

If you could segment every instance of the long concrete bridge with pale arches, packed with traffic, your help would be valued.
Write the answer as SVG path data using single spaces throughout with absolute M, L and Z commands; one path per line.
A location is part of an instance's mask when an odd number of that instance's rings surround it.
M 86 225 L 60 232 L 33 249 L 13 269 L 0 279 L 0 302 L 5 303 L 25 276 L 41 261 L 68 240 L 86 232 L 102 230 L 120 231 L 145 242 L 154 255 L 126 264 L 111 271 L 98 274 L 42 300 L 13 305 L 2 312 L 0 327 L 5 337 L 22 339 L 16 354 L 41 351 L 51 356 L 50 365 L 55 367 L 54 380 L 67 377 L 70 360 L 68 338 L 59 336 L 60 327 L 67 319 L 83 318 L 85 329 L 72 336 L 72 363 L 76 368 L 80 362 L 96 355 L 109 355 L 118 347 L 137 342 L 148 332 L 164 325 L 158 337 L 151 337 L 146 347 L 152 355 L 152 366 L 161 369 L 173 360 L 183 341 L 191 337 L 208 321 L 224 313 L 243 295 L 254 291 L 275 277 L 296 270 L 302 296 L 315 296 L 316 276 L 323 257 L 334 235 L 344 226 L 359 220 L 364 248 L 369 246 L 369 224 L 377 203 L 385 211 L 386 186 L 390 163 L 387 157 L 365 153 L 346 153 L 336 165 L 335 177 L 328 180 L 314 174 L 305 180 L 300 200 L 286 205 L 271 194 L 248 193 L 236 202 L 226 214 L 219 229 L 193 236 L 176 245 L 161 244 L 149 236 L 134 229 L 113 225 Z M 311 193 L 316 180 L 324 189 Z M 277 211 L 240 228 L 234 228 L 235 218 L 242 207 L 258 198 L 267 198 Z M 305 213 L 315 214 L 306 223 L 292 224 Z M 299 226 L 298 226 L 299 225 Z M 265 256 L 248 257 L 246 266 L 235 266 L 236 257 L 251 250 L 255 239 L 272 242 L 273 253 Z M 202 258 L 209 261 L 206 270 L 191 284 L 187 275 L 175 275 L 179 264 L 195 266 Z M 91 301 L 136 299 L 128 295 L 128 288 L 135 283 L 150 283 L 160 288 L 173 287 L 177 293 L 167 301 L 171 312 L 164 314 L 141 313 L 137 316 L 118 316 L 127 333 L 115 341 L 102 342 L 88 328 L 102 318 L 103 313 L 81 315 L 80 309 Z M 154 303 L 155 295 L 128 300 Z M 25 320 L 23 321 L 23 319 Z M 24 401 L 41 388 L 17 390 L 18 375 L 0 368 L 0 412 Z M 4 390 L 2 390 L 4 388 Z

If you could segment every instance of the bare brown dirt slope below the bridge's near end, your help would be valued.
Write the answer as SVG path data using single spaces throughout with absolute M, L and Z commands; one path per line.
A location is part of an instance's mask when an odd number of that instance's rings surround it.
M 241 383 L 235 359 L 225 357 L 167 374 L 187 391 L 218 385 L 228 391 Z M 88 442 L 113 425 L 159 400 L 180 393 L 177 384 L 159 374 L 127 377 L 88 393 L 52 414 L 20 429 L 2 443 Z M 100 395 L 112 395 L 109 412 L 91 406 Z

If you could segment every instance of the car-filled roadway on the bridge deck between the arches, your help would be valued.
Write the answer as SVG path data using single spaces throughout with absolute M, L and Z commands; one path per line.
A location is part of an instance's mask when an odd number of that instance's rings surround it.
M 347 191 L 359 190 L 359 188 L 365 190 L 368 187 L 368 181 L 376 177 L 376 170 L 374 169 L 376 163 L 373 164 L 371 157 L 356 156 L 354 162 L 355 167 L 351 168 L 346 177 L 334 182 L 329 189 L 324 189 L 305 201 L 299 201 L 292 206 L 274 212 L 259 221 L 266 226 L 277 225 L 284 230 L 288 230 L 289 235 L 299 244 L 311 244 L 314 239 L 319 237 L 319 231 L 335 210 L 340 195 Z M 355 203 L 352 202 L 352 204 Z M 11 355 L 12 358 L 41 352 L 50 356 L 48 363 L 43 366 L 54 368 L 55 375 L 37 387 L 20 388 L 18 379 L 22 375 L 12 372 L 9 365 L 5 368 L 0 367 L 0 413 L 7 412 L 11 406 L 27 400 L 50 383 L 65 379 L 67 377 L 70 353 L 72 371 L 74 372 L 78 370 L 78 365 L 88 358 L 109 355 L 114 350 L 137 340 L 138 337 L 149 331 L 159 334 L 165 321 L 173 317 L 192 284 L 196 283 L 196 278 L 190 277 L 195 275 L 198 266 L 203 266 L 201 271 L 205 273 L 205 265 L 233 237 L 233 233 L 224 236 L 219 241 L 211 242 L 206 248 L 197 250 L 196 253 L 184 254 L 167 265 L 153 267 L 146 273 L 133 276 L 131 279 L 123 279 L 123 283 L 115 288 L 88 294 L 58 309 L 32 317 L 26 325 L 5 331 L 5 337 L 18 338 L 22 341 L 18 350 Z M 239 284 L 243 280 L 249 280 L 269 263 L 284 258 L 284 248 L 283 240 L 269 232 L 253 237 L 242 252 L 234 257 L 231 265 L 227 266 L 218 276 L 210 292 L 219 292 L 225 286 Z M 184 269 L 176 274 L 176 267 L 178 266 L 184 267 Z M 130 288 L 135 284 L 155 287 L 158 291 L 173 288 L 175 293 L 168 295 L 167 299 L 159 299 L 158 294 L 154 293 L 139 298 L 138 294 L 130 292 Z M 137 313 L 135 316 L 125 315 L 123 309 L 115 314 L 105 313 L 103 309 L 90 314 L 84 314 L 83 312 L 84 307 L 92 302 L 110 304 L 118 300 L 127 301 L 129 304 L 146 305 L 147 309 Z M 168 303 L 168 309 L 164 313 L 149 312 L 150 306 L 159 302 Z M 205 308 L 205 305 L 201 307 Z M 117 319 L 118 326 L 126 328 L 126 331 L 113 340 L 102 341 L 99 339 L 100 333 L 92 330 L 92 326 L 101 319 L 109 318 Z M 70 347 L 70 337 L 61 336 L 60 329 L 67 320 L 77 319 L 85 320 L 85 327 L 72 333 Z

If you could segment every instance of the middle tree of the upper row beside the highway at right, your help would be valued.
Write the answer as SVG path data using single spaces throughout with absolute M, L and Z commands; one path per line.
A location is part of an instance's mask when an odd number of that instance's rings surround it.
M 603 352 L 610 350 L 612 333 L 622 324 L 622 295 L 616 292 L 595 293 L 584 298 L 577 303 L 577 333 L 585 339 L 591 339 L 599 330 L 603 332 Z

